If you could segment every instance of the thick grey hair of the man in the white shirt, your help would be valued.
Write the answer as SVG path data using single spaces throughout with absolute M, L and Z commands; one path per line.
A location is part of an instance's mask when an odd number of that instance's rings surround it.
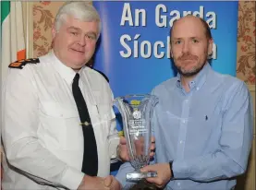
M 89 2 L 69 2 L 60 7 L 55 17 L 55 30 L 58 31 L 67 17 L 71 16 L 84 22 L 99 22 L 99 34 L 102 30 L 102 22 L 97 10 Z

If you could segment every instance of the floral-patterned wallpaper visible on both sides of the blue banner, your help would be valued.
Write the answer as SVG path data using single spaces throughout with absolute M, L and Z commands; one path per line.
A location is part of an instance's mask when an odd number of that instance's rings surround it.
M 51 47 L 51 26 L 64 2 L 33 3 L 33 56 L 47 53 Z M 255 85 L 255 2 L 241 1 L 238 9 L 238 78 Z

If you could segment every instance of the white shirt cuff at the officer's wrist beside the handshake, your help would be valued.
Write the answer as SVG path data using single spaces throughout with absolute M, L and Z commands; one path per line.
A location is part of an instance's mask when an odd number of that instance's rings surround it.
M 83 177 L 83 172 L 71 167 L 67 167 L 67 170 L 64 172 L 61 178 L 61 184 L 66 186 L 68 189 L 78 189 Z

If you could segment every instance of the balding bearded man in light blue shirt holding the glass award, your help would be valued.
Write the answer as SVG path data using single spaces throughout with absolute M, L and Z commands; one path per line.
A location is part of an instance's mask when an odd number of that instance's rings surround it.
M 178 19 L 170 44 L 178 74 L 152 90 L 159 98 L 152 117 L 156 149 L 154 163 L 141 171 L 158 172 L 147 181 L 166 189 L 234 189 L 253 137 L 250 91 L 209 65 L 213 38 L 203 19 Z M 124 189 L 133 170 L 126 162 L 116 175 Z

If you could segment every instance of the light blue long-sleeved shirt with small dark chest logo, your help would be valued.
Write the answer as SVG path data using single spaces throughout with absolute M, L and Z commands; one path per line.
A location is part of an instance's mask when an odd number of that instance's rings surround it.
M 152 90 L 159 98 L 152 116 L 154 161 L 173 160 L 175 178 L 166 189 L 233 189 L 233 177 L 246 171 L 253 137 L 250 91 L 209 64 L 189 88 L 183 89 L 177 75 Z M 126 186 L 131 171 L 128 162 L 123 164 L 116 179 Z

